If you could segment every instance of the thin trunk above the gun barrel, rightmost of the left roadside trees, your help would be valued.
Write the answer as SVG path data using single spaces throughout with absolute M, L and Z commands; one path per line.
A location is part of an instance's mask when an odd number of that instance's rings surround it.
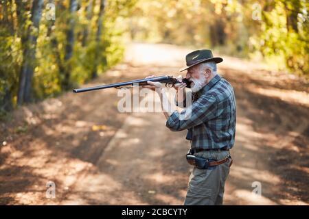
M 97 44 L 100 44 L 100 40 L 101 40 L 101 36 L 102 36 L 104 8 L 105 8 L 105 0 L 100 0 L 98 30 L 97 30 L 97 34 L 95 35 L 95 41 L 97 42 Z M 97 49 L 95 49 L 95 57 L 100 57 L 100 55 L 99 55 L 100 52 L 102 52 L 102 51 L 100 51 L 100 47 L 97 47 Z M 94 79 L 95 77 L 98 77 L 98 72 L 97 72 L 98 58 L 96 58 L 96 59 L 97 60 L 95 60 L 93 72 L 91 74 L 92 79 Z M 103 59 L 104 59 L 103 62 L 106 63 L 106 57 L 103 57 Z

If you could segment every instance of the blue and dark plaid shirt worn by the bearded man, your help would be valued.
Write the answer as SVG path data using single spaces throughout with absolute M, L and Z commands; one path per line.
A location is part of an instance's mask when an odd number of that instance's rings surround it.
M 236 101 L 231 84 L 216 75 L 193 95 L 196 101 L 181 113 L 173 112 L 166 127 L 192 131 L 192 149 L 231 149 L 236 133 Z

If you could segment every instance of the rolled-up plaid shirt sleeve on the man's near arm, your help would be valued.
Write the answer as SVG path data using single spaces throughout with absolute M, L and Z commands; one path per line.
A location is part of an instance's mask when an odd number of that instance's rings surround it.
M 182 131 L 196 125 L 205 123 L 207 120 L 216 118 L 218 104 L 216 98 L 209 94 L 202 95 L 190 107 L 181 111 L 174 111 L 166 121 L 165 126 L 171 131 Z

